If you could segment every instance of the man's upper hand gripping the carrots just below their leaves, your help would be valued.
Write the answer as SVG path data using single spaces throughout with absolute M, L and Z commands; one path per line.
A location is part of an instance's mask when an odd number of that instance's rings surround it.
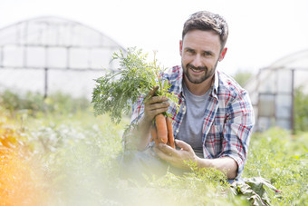
M 149 91 L 145 103 L 144 103 L 144 120 L 151 122 L 154 117 L 159 113 L 164 113 L 168 111 L 170 103 L 168 103 L 168 98 L 166 96 L 155 96 L 156 91 L 159 86 L 155 86 L 151 91 Z

